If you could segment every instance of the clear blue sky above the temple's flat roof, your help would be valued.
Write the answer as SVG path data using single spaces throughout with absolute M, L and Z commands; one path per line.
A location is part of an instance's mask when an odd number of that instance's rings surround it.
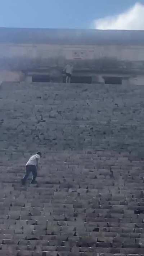
M 136 3 L 144 0 L 1 0 L 0 27 L 99 28 L 102 24 L 94 21 L 115 17 Z

